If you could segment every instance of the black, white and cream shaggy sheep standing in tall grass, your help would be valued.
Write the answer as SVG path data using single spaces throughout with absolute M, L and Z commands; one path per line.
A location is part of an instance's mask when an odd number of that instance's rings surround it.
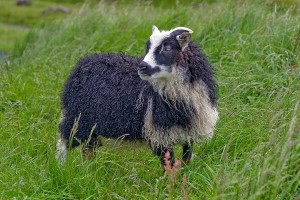
M 153 153 L 174 160 L 193 157 L 193 144 L 210 138 L 218 119 L 216 83 L 206 56 L 191 40 L 193 31 L 152 27 L 144 58 L 102 53 L 81 59 L 62 93 L 56 159 L 84 144 L 93 155 L 99 136 L 146 140 Z

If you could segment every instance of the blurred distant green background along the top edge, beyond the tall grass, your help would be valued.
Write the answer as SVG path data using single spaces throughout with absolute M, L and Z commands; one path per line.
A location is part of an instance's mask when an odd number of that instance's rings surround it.
M 19 1 L 28 1 L 28 5 L 18 5 Z M 254 0 L 255 1 L 255 0 Z M 47 24 L 54 19 L 63 19 L 66 15 L 76 14 L 84 3 L 94 6 L 99 0 L 1 0 L 0 1 L 0 54 L 10 52 L 16 42 L 23 40 L 28 30 L 36 24 Z M 102 1 L 103 2 L 103 1 Z M 128 5 L 131 0 L 106 0 L 108 3 Z M 143 1 L 140 1 L 143 2 Z M 195 3 L 219 3 L 217 0 L 168 0 L 145 1 L 154 7 L 172 8 Z M 266 0 L 279 8 L 299 7 L 299 0 Z

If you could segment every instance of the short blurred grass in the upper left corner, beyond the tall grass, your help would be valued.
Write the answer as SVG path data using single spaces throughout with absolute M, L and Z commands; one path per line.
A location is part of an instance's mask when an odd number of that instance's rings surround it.
M 79 1 L 58 3 L 47 0 L 31 1 L 30 6 L 17 6 L 14 0 L 1 0 L 0 50 L 11 52 L 15 43 L 23 40 L 28 29 L 36 24 L 47 24 L 54 19 L 65 18 L 66 14 L 60 12 L 47 13 L 47 10 L 59 6 L 68 8 L 72 13 L 78 10 L 80 4 Z

